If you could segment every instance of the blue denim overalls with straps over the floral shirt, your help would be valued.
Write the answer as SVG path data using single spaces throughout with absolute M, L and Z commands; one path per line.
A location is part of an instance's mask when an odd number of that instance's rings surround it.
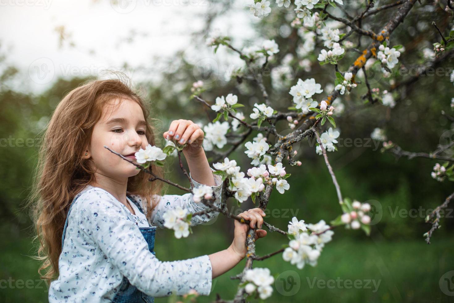
M 73 202 L 69 206 L 69 211 L 68 211 L 68 217 L 69 217 L 69 212 L 71 211 L 71 207 L 74 204 L 74 201 L 79 198 L 81 193 L 77 194 L 74 197 Z M 137 208 L 140 210 L 140 212 L 143 214 L 143 210 L 140 207 L 140 204 L 136 202 L 133 198 L 127 195 L 129 200 L 131 200 L 134 204 L 136 204 Z M 66 217 L 66 222 L 64 223 L 64 228 L 63 228 L 63 236 L 61 238 L 61 247 L 63 249 L 63 241 L 64 241 L 64 233 L 66 231 L 66 227 L 68 226 L 68 217 Z M 137 224 L 137 223 L 136 223 Z M 150 250 L 151 253 L 154 255 L 156 254 L 153 251 L 154 248 L 154 235 L 156 233 L 156 226 L 152 227 L 139 227 L 140 232 L 143 235 L 143 238 L 148 243 L 148 249 Z M 123 276 L 123 281 L 120 284 L 120 288 L 118 292 L 115 294 L 114 298 L 112 299 L 112 302 L 114 303 L 136 303 L 136 302 L 145 302 L 145 303 L 154 303 L 154 297 L 149 296 L 146 293 L 141 292 L 138 290 L 135 286 L 133 286 L 131 283 L 129 283 L 128 279 Z

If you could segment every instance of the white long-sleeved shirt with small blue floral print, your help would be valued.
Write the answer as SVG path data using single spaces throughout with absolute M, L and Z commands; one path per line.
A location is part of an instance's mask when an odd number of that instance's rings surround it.
M 215 205 L 220 207 L 222 178 L 213 176 L 217 184 L 212 186 Z M 196 187 L 202 185 L 194 179 L 192 182 Z M 131 196 L 146 213 L 145 198 Z M 149 226 L 164 228 L 163 214 L 177 206 L 190 213 L 207 206 L 194 202 L 191 193 L 163 195 L 148 221 L 135 204 L 129 203 L 135 215 L 104 189 L 88 185 L 82 191 L 69 213 L 59 258 L 59 278 L 50 283 L 49 302 L 110 302 L 118 292 L 123 275 L 150 296 L 183 295 L 191 289 L 202 295 L 210 293 L 212 267 L 208 255 L 159 261 L 148 250 L 148 243 L 139 230 L 139 227 Z M 192 225 L 215 219 L 219 213 L 211 211 L 208 215 L 209 218 L 205 214 L 193 216 Z M 158 238 L 155 251 L 158 254 L 165 251 L 159 248 Z

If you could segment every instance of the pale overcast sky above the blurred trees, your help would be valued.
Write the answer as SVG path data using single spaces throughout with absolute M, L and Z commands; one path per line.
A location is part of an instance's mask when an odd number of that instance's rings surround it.
M 193 62 L 216 58 L 226 60 L 225 50 L 189 45 L 191 33 L 204 26 L 203 15 L 215 9 L 213 0 L 0 0 L 1 52 L 7 62 L 20 69 L 15 86 L 25 91 L 42 91 L 59 75 L 97 75 L 104 69 L 121 70 L 133 80 L 143 79 L 134 67 L 151 65 L 153 57 L 171 57 L 177 50 L 187 50 Z M 243 39 L 254 38 L 251 22 L 257 18 L 236 1 L 230 15 L 214 24 L 222 34 Z M 57 26 L 64 25 L 70 34 L 59 48 Z M 121 43 L 130 39 L 133 43 Z M 74 41 L 75 47 L 69 46 Z M 94 50 L 94 55 L 90 51 Z M 124 62 L 132 66 L 122 69 Z M 229 61 L 231 62 L 231 61 Z M 235 62 L 235 61 L 234 61 Z M 239 60 L 237 61 L 239 63 Z M 146 77 L 158 79 L 166 66 L 146 66 Z M 230 67 L 231 68 L 231 67 Z

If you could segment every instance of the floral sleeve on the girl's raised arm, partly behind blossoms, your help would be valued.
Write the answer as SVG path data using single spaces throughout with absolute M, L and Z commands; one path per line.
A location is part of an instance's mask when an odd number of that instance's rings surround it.
M 214 172 L 216 170 L 212 169 L 212 171 Z M 191 173 L 189 173 L 189 176 L 191 177 Z M 213 204 L 216 205 L 217 207 L 221 207 L 222 177 L 217 174 L 213 174 L 213 176 L 216 182 L 215 186 L 211 186 L 211 188 L 213 189 L 213 194 L 215 196 L 215 201 Z M 202 186 L 202 184 L 198 183 L 194 179 L 192 179 L 192 182 L 194 183 L 194 186 L 196 188 Z M 139 195 L 132 195 L 132 197 L 136 199 L 136 201 L 139 201 L 139 203 L 143 206 L 143 209 L 146 209 L 146 202 L 145 199 L 143 199 L 143 197 Z M 158 226 L 164 228 L 163 214 L 170 209 L 176 209 L 178 206 L 180 206 L 182 209 L 188 209 L 189 213 L 191 214 L 208 209 L 208 207 L 202 202 L 198 203 L 195 202 L 192 199 L 192 193 L 187 193 L 183 195 L 166 194 L 160 197 L 159 203 L 153 209 L 150 219 L 148 219 L 148 223 L 151 226 Z M 211 221 L 213 219 L 216 219 L 217 216 L 219 215 L 219 212 L 211 210 L 207 214 L 209 218 L 206 214 L 192 216 L 191 219 L 192 225 L 199 225 Z

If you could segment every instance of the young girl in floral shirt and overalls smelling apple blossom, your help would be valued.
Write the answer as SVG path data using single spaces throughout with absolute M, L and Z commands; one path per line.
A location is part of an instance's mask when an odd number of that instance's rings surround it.
M 155 145 L 143 100 L 117 79 L 91 81 L 58 104 L 44 134 L 35 193 L 39 272 L 50 283 L 49 302 L 154 302 L 153 296 L 208 295 L 212 278 L 246 255 L 249 228 L 262 227 L 265 213 L 250 209 L 235 220 L 232 244 L 217 253 L 163 262 L 155 256 L 156 228 L 163 214 L 178 206 L 195 213 L 207 209 L 192 194 L 159 196 L 161 183 L 104 145 L 135 160 L 134 153 Z M 175 120 L 167 139 L 188 143 L 183 150 L 194 185 L 211 186 L 221 204 L 222 180 L 212 174 L 202 149 L 203 131 L 190 120 Z M 153 172 L 162 176 L 159 166 Z M 208 216 L 207 216 L 208 215 Z M 192 225 L 216 218 L 211 211 Z M 257 229 L 256 238 L 266 231 Z M 158 242 L 159 243 L 159 242 Z M 163 255 L 165 248 L 156 249 Z M 57 278 L 58 277 L 58 278 Z M 56 278 L 56 280 L 55 280 Z

